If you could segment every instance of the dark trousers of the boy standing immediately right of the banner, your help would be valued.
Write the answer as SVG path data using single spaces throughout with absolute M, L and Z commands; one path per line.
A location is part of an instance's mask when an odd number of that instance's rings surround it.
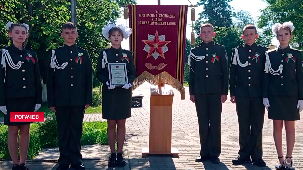
M 221 154 L 221 94 L 197 94 L 195 104 L 199 123 L 200 155 Z

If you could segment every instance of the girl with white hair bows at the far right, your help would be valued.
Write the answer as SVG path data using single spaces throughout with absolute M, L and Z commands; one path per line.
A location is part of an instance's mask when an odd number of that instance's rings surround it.
M 303 110 L 303 71 L 301 50 L 289 47 L 291 22 L 272 26 L 279 47 L 266 52 L 263 80 L 263 104 L 268 118 L 273 120 L 274 141 L 278 153 L 276 169 L 292 168 L 292 151 L 295 145 L 295 120 L 300 120 Z M 285 125 L 287 152 L 284 159 L 282 129 Z

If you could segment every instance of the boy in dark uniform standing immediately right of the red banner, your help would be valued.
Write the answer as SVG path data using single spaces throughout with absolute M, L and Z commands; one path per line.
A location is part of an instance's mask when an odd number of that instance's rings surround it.
M 211 159 L 218 164 L 222 103 L 228 95 L 227 54 L 224 46 L 213 42 L 215 32 L 211 24 L 203 24 L 200 31 L 203 42 L 192 48 L 188 57 L 189 94 L 196 104 L 201 144 L 196 162 Z

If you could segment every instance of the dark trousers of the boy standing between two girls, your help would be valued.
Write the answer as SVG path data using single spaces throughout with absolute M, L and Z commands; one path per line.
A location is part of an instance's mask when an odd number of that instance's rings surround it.
M 85 106 L 57 106 L 58 142 L 60 164 L 77 164 L 82 162 L 81 137 Z

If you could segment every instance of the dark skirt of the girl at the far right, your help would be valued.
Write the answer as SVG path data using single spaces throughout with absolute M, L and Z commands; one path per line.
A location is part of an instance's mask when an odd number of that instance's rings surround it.
M 268 118 L 273 120 L 300 120 L 298 96 L 269 96 Z

